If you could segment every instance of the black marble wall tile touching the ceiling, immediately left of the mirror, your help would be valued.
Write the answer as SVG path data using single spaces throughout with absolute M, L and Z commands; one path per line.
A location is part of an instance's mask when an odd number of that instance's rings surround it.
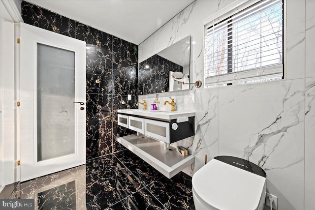
M 114 94 L 137 94 L 138 46 L 113 37 Z

